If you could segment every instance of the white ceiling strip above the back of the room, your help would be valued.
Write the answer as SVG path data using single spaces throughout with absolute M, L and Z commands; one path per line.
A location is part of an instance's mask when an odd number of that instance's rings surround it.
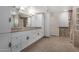
M 62 12 L 62 11 L 68 11 L 71 10 L 71 6 L 34 6 L 36 9 L 43 10 L 43 11 L 49 11 L 52 13 L 56 12 Z

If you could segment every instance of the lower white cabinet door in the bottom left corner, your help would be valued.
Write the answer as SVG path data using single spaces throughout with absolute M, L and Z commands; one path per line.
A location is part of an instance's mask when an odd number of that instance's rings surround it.
M 9 41 L 10 34 L 0 34 L 0 52 L 8 52 L 10 51 Z

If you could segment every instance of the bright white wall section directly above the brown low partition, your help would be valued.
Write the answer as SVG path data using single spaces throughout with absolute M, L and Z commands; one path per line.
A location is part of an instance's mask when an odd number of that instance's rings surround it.
M 68 12 L 62 12 L 59 15 L 59 26 L 60 27 L 68 27 L 69 26 L 69 21 L 68 21 Z

